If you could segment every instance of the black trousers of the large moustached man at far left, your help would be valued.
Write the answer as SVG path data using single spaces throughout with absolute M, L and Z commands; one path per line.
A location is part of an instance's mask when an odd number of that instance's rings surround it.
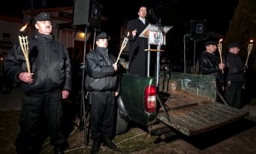
M 20 134 L 15 140 L 17 153 L 40 153 L 48 137 L 55 148 L 65 142 L 61 134 L 61 91 L 45 94 L 23 95 L 20 113 Z

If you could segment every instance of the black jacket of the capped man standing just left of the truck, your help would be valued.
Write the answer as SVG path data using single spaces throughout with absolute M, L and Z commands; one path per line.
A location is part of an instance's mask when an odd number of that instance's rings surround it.
M 89 92 L 120 91 L 119 76 L 112 66 L 115 61 L 113 54 L 108 54 L 108 48 L 96 47 L 86 54 L 85 88 Z

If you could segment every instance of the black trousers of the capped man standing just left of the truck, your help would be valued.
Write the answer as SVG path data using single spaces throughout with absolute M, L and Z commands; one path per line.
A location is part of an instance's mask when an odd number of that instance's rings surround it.
M 90 93 L 90 123 L 92 140 L 113 137 L 114 92 Z

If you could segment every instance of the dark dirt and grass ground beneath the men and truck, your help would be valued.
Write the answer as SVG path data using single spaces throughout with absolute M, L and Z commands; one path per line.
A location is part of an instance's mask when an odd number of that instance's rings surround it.
M 19 132 L 19 111 L 0 112 L 0 153 L 15 153 L 14 141 Z M 256 117 L 245 117 L 234 123 L 213 129 L 204 134 L 185 136 L 176 132 L 166 140 L 159 136 L 149 136 L 146 128 L 132 125 L 125 134 L 115 136 L 116 151 L 101 146 L 100 153 L 173 153 L 173 154 L 254 154 L 256 151 Z M 84 130 L 74 127 L 67 139 L 66 153 L 90 153 L 91 140 L 84 144 Z M 49 140 L 45 141 L 42 154 L 53 153 Z

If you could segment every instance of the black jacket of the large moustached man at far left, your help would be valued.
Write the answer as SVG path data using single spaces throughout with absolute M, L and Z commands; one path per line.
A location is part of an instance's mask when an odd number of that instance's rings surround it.
M 70 59 L 61 43 L 55 41 L 53 36 L 39 34 L 28 37 L 30 68 L 34 83 L 28 84 L 20 81 L 20 72 L 27 71 L 26 59 L 16 44 L 9 51 L 5 59 L 5 71 L 16 82 L 21 82 L 20 88 L 25 94 L 39 94 L 55 89 L 68 90 L 72 88 L 72 72 Z

